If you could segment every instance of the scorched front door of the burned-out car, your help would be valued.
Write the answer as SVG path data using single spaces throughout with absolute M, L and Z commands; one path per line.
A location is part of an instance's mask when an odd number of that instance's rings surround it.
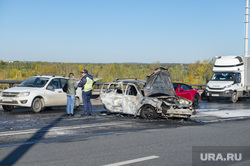
M 123 112 L 126 114 L 137 114 L 138 109 L 141 107 L 142 94 L 137 86 L 128 83 L 125 89 L 123 98 Z

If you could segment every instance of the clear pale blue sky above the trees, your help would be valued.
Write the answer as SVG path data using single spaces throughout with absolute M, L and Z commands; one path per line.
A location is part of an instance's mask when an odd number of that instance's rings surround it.
M 0 60 L 193 63 L 244 54 L 245 0 L 0 0 Z

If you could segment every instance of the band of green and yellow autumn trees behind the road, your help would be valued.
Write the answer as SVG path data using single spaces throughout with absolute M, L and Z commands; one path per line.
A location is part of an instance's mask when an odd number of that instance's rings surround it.
M 206 78 L 212 76 L 214 59 L 197 61 L 190 64 L 83 64 L 83 63 L 52 63 L 52 62 L 4 62 L 0 60 L 0 80 L 25 80 L 34 75 L 68 76 L 74 73 L 81 78 L 81 71 L 87 69 L 100 82 L 110 82 L 116 78 L 138 78 L 145 80 L 155 68 L 167 68 L 173 82 L 186 84 L 205 84 Z

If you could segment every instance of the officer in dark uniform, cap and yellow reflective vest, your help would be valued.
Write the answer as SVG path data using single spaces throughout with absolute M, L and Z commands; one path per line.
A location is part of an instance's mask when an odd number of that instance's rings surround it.
M 82 87 L 82 100 L 84 104 L 84 114 L 92 115 L 92 105 L 90 97 L 93 89 L 93 76 L 88 74 L 88 70 L 84 69 L 82 72 L 82 79 L 78 83 L 78 87 Z

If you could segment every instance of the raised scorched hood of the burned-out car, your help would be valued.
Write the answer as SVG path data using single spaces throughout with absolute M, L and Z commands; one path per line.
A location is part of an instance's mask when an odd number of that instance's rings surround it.
M 146 77 L 144 93 L 147 97 L 176 96 L 170 74 L 167 69 L 160 67 Z

